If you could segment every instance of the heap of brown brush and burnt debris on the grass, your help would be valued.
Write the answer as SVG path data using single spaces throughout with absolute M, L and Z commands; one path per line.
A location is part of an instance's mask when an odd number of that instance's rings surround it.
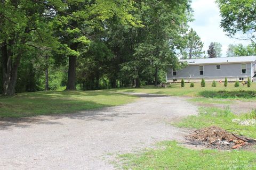
M 255 139 L 229 133 L 217 126 L 196 130 L 188 136 L 193 145 L 204 145 L 214 149 L 239 149 L 256 143 Z

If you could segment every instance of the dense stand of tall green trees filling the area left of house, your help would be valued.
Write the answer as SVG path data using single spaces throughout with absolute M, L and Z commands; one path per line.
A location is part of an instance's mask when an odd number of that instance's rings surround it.
M 178 68 L 190 1 L 0 1 L 0 92 L 115 88 Z

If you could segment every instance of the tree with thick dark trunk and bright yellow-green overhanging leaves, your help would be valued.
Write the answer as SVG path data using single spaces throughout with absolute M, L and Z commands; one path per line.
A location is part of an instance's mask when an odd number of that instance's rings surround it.
M 120 19 L 119 24 L 138 25 L 131 15 L 133 1 L 84 1 L 73 0 L 65 2 L 65 10 L 57 9 L 55 17 L 56 33 L 66 47 L 69 59 L 67 90 L 76 89 L 76 63 L 80 55 L 79 46 L 90 44 L 92 32 L 95 29 L 106 29 L 107 20 L 114 16 Z M 59 25 L 58 25 L 59 24 Z

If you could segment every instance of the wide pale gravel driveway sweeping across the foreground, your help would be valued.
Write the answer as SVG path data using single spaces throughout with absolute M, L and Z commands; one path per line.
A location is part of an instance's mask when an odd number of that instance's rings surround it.
M 188 130 L 170 122 L 196 113 L 182 97 L 141 95 L 97 111 L 2 121 L 0 169 L 114 169 L 116 154 L 184 141 Z

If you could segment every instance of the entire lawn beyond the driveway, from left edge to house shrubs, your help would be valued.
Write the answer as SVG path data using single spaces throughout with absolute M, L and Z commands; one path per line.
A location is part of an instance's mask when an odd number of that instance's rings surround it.
M 175 95 L 194 97 L 191 101 L 203 101 L 204 103 L 231 103 L 234 99 L 254 101 L 255 97 L 209 97 L 216 91 L 254 91 L 256 83 L 252 87 L 234 87 L 234 83 L 228 83 L 225 88 L 223 83 L 217 83 L 217 87 L 211 87 L 211 83 L 206 83 L 206 87 L 201 87 L 200 83 L 195 83 L 194 88 L 189 87 L 189 83 L 184 88 L 180 83 L 171 84 L 168 88 L 157 88 L 145 86 L 142 88 L 121 88 L 95 91 L 42 91 L 22 93 L 13 97 L 0 97 L 0 118 L 3 117 L 25 117 L 46 114 L 74 113 L 87 109 L 116 106 L 129 103 L 135 99 L 134 96 L 127 96 L 123 92 L 142 92 L 150 94 Z M 204 99 L 202 97 L 206 94 Z M 207 97 L 208 95 L 208 97 Z

